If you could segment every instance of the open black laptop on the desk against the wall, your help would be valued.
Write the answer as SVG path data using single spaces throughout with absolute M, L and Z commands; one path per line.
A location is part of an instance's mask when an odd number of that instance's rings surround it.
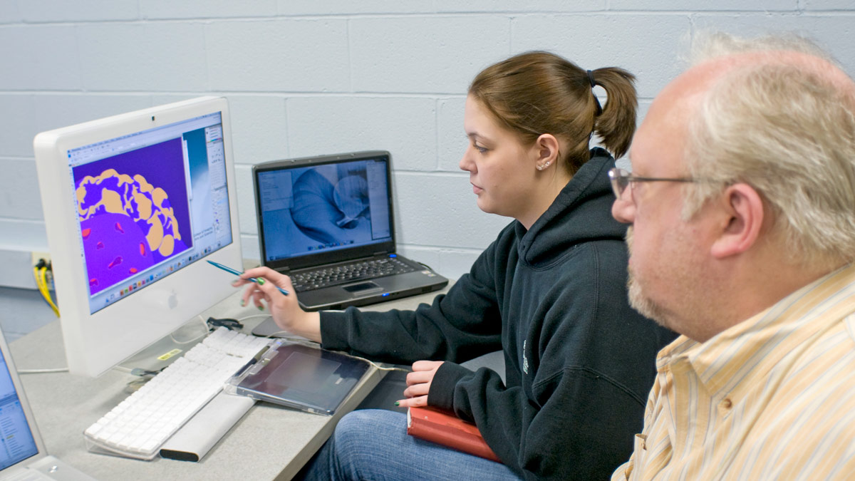
M 389 152 L 260 163 L 252 179 L 262 264 L 291 276 L 304 309 L 364 306 L 448 283 L 395 252 Z

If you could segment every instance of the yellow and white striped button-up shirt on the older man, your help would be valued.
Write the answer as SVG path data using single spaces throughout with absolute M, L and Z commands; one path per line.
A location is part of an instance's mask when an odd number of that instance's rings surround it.
M 855 479 L 855 266 L 657 356 L 622 479 Z

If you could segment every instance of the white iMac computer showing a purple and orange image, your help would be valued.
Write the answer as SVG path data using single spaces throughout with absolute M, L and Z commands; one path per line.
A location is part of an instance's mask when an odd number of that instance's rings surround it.
M 68 369 L 96 377 L 233 294 L 240 269 L 225 98 L 33 140 Z

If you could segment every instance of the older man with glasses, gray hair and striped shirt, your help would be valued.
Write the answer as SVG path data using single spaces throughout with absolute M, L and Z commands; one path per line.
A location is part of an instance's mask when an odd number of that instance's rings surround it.
M 852 479 L 855 84 L 803 39 L 705 51 L 610 173 L 630 300 L 683 335 L 613 479 Z

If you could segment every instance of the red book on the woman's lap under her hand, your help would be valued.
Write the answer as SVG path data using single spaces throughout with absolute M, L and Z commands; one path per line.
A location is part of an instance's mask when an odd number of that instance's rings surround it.
M 502 462 L 486 445 L 477 426 L 433 407 L 410 407 L 407 410 L 407 434 L 463 453 Z

